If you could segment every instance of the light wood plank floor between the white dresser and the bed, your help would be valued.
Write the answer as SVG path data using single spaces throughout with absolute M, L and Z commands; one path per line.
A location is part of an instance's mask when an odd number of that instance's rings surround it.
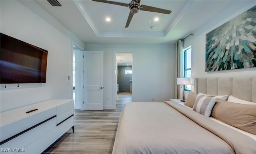
M 42 154 L 111 154 L 120 113 L 132 102 L 129 94 L 118 94 L 116 110 L 75 110 L 75 132 L 68 130 Z

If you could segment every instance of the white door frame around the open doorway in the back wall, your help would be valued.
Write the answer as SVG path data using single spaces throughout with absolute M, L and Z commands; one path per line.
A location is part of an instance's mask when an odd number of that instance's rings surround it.
M 116 108 L 117 100 L 117 60 L 116 54 L 132 54 L 132 70 L 134 70 L 134 52 L 133 50 L 122 50 L 122 51 L 113 51 L 113 107 Z M 132 71 L 132 80 L 133 80 L 133 71 Z M 133 82 L 132 82 L 133 84 Z M 132 85 L 132 89 L 133 89 Z M 133 90 L 132 90 L 133 91 Z

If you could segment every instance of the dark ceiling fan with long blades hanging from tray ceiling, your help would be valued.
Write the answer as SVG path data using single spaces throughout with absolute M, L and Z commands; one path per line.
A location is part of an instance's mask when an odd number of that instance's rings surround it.
M 135 13 L 138 13 L 139 10 L 150 11 L 150 12 L 158 12 L 158 13 L 164 13 L 164 14 L 170 14 L 172 12 L 170 10 L 165 10 L 165 9 L 162 9 L 162 8 L 155 8 L 155 7 L 152 7 L 152 6 L 140 5 L 140 0 L 132 0 L 129 4 L 120 3 L 120 2 L 113 2 L 113 1 L 108 1 L 108 0 L 92 0 L 92 1 L 129 7 L 130 8 L 130 13 L 129 13 L 125 28 L 127 28 L 129 26 L 133 15 Z

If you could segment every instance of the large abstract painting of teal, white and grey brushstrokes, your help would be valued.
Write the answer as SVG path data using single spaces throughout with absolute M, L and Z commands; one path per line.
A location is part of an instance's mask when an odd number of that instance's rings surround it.
M 206 34 L 205 71 L 256 67 L 256 6 Z

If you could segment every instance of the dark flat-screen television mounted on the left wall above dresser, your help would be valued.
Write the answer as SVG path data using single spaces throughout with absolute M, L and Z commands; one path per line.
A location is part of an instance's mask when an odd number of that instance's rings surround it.
M 45 83 L 48 51 L 0 34 L 0 83 Z

